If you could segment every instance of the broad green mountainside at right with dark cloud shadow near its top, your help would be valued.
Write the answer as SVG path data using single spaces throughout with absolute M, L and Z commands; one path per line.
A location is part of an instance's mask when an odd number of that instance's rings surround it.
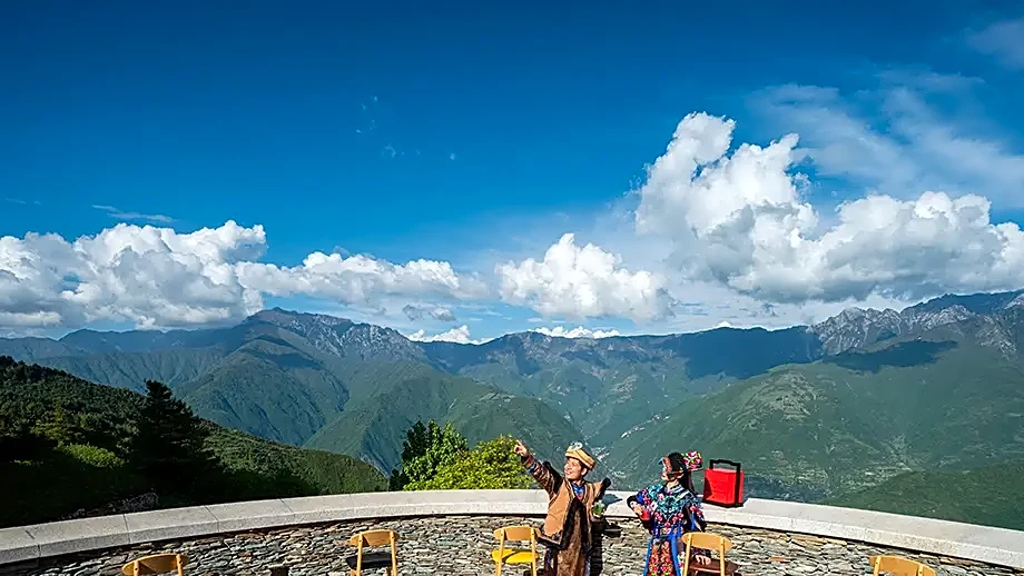
M 1022 325 L 1017 311 L 1001 321 Z M 969 320 L 934 339 L 775 368 L 638 426 L 612 445 L 610 465 L 638 485 L 654 477 L 658 456 L 700 449 L 742 461 L 751 493 L 814 499 L 907 470 L 1022 457 L 1016 344 L 985 340 L 984 330 Z

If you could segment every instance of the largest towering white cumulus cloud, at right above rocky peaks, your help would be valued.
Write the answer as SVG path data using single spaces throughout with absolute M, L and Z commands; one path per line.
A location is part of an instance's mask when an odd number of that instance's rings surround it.
M 639 190 L 637 230 L 671 238 L 683 277 L 779 302 L 1024 284 L 1024 235 L 993 224 L 985 198 L 872 195 L 844 202 L 823 230 L 803 195 L 806 177 L 792 171 L 798 137 L 730 155 L 733 129 L 725 118 L 687 116 Z

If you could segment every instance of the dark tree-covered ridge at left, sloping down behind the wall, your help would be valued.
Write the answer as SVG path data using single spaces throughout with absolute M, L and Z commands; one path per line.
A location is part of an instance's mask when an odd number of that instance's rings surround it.
M 197 418 L 161 383 L 145 396 L 0 356 L 0 526 L 386 488 L 348 456 L 285 446 Z

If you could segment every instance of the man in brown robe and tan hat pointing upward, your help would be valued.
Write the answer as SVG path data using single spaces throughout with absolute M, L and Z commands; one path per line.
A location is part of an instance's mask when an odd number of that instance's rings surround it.
M 547 547 L 544 576 L 588 576 L 593 545 L 591 509 L 604 496 L 611 480 L 584 480 L 597 463 L 580 443 L 565 450 L 562 474 L 551 463 L 538 461 L 521 440 L 515 443 L 515 454 L 548 493 L 548 517 L 538 536 L 538 542 Z

